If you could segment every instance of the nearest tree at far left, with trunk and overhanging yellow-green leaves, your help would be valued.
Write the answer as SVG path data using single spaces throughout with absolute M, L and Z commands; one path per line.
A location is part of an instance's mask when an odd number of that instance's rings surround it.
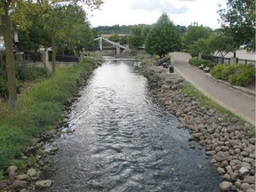
M 8 99 L 11 108 L 17 108 L 17 92 L 15 78 L 15 63 L 12 44 L 12 22 L 20 23 L 20 26 L 25 26 L 24 12 L 35 12 L 38 8 L 44 12 L 44 3 L 50 4 L 49 1 L 21 1 L 21 0 L 0 0 L 0 16 L 4 36 L 5 52 L 6 52 L 6 68 L 8 78 Z M 66 2 L 67 1 L 54 1 Z M 81 0 L 68 1 L 70 4 L 82 2 L 93 9 L 99 9 L 103 4 L 101 0 Z M 35 6 L 36 5 L 36 6 Z M 48 6 L 47 6 L 48 8 Z

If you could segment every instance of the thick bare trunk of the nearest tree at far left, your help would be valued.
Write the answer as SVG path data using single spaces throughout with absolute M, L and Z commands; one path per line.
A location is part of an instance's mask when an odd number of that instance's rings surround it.
M 15 62 L 12 44 L 11 20 L 8 11 L 1 15 L 5 52 L 6 52 L 6 70 L 8 77 L 8 99 L 11 108 L 17 108 L 17 91 L 15 77 Z

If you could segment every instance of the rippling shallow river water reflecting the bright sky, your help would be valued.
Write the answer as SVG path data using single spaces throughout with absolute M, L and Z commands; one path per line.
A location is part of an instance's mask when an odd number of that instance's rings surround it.
M 157 104 L 134 63 L 107 60 L 74 103 L 69 127 L 52 145 L 57 169 L 44 191 L 214 192 L 221 182 L 204 149 Z

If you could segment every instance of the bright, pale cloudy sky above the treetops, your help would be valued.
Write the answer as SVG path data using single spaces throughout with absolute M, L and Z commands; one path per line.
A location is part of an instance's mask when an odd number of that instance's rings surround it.
M 100 10 L 88 14 L 92 28 L 98 26 L 153 24 L 164 12 L 175 25 L 191 23 L 220 28 L 217 11 L 226 8 L 226 0 L 103 0 Z

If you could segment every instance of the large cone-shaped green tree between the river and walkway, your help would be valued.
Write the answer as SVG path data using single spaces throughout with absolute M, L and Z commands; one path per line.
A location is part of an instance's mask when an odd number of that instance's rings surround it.
M 162 58 L 168 52 L 179 51 L 180 36 L 172 21 L 163 13 L 150 29 L 145 40 L 145 50 Z

